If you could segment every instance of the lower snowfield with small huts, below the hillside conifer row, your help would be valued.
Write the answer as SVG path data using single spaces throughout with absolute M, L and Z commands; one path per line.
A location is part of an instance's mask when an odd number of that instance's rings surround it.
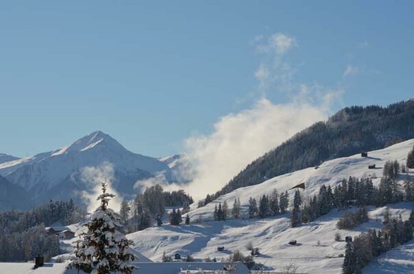
M 402 214 L 408 219 L 413 203 L 389 205 L 393 216 Z M 151 227 L 141 232 L 127 235 L 133 240 L 134 249 L 151 260 L 160 261 L 162 253 L 182 257 L 191 254 L 194 258 L 206 257 L 227 260 L 236 250 L 249 255 L 245 245 L 252 242 L 260 249 L 261 255 L 256 262 L 282 271 L 293 262 L 304 273 L 341 273 L 345 253 L 345 242 L 336 242 L 334 234 L 339 232 L 342 238 L 356 236 L 369 228 L 382 227 L 384 208 L 369 207 L 370 221 L 352 230 L 337 229 L 336 224 L 343 211 L 332 210 L 330 214 L 301 227 L 290 228 L 289 214 L 269 219 L 211 221 L 199 225 L 172 227 Z M 288 245 L 289 240 L 297 240 L 297 246 Z M 217 247 L 225 247 L 217 251 Z M 332 257 L 332 258 L 327 258 Z

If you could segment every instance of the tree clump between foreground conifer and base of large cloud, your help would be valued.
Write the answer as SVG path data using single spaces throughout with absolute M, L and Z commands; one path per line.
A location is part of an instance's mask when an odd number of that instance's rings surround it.
M 162 218 L 165 215 L 165 207 L 182 207 L 185 213 L 193 198 L 186 195 L 184 190 L 165 192 L 161 186 L 146 188 L 142 194 L 136 195 L 132 203 L 123 201 L 121 204 L 121 221 L 125 232 L 136 232 L 154 225 L 162 225 Z M 170 218 L 171 220 L 171 218 Z

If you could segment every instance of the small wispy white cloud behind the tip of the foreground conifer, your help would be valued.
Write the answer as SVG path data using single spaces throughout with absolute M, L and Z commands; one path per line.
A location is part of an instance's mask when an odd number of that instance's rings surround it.
M 82 198 L 88 205 L 88 212 L 95 211 L 100 205 L 100 201 L 97 201 L 97 197 L 101 195 L 101 182 L 108 184 L 107 192 L 115 195 L 109 202 L 109 207 L 115 211 L 119 211 L 121 208 L 122 198 L 112 188 L 112 182 L 114 179 L 114 167 L 110 162 L 103 162 L 99 166 L 86 166 L 81 170 L 81 179 L 91 190 L 90 192 L 82 192 Z

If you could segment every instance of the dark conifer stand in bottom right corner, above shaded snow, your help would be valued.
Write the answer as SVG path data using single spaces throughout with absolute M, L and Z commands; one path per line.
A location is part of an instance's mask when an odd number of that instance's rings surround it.
M 391 219 L 378 232 L 376 229 L 369 229 L 368 232 L 356 236 L 354 242 L 348 242 L 343 261 L 343 273 L 362 273 L 361 270 L 372 258 L 411 240 L 414 213 L 411 212 L 411 215 L 413 216 L 411 220 L 403 222 L 401 216 L 399 219 Z

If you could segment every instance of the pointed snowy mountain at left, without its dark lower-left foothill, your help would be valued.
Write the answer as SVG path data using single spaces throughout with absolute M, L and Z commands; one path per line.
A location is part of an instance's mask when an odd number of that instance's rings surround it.
M 113 186 L 123 195 L 134 193 L 134 183 L 162 173 L 171 179 L 168 164 L 156 158 L 132 153 L 103 132 L 93 132 L 72 145 L 40 153 L 33 157 L 0 164 L 0 175 L 22 186 L 36 201 L 68 199 L 88 188 L 82 182 L 82 170 L 88 166 L 110 165 Z

